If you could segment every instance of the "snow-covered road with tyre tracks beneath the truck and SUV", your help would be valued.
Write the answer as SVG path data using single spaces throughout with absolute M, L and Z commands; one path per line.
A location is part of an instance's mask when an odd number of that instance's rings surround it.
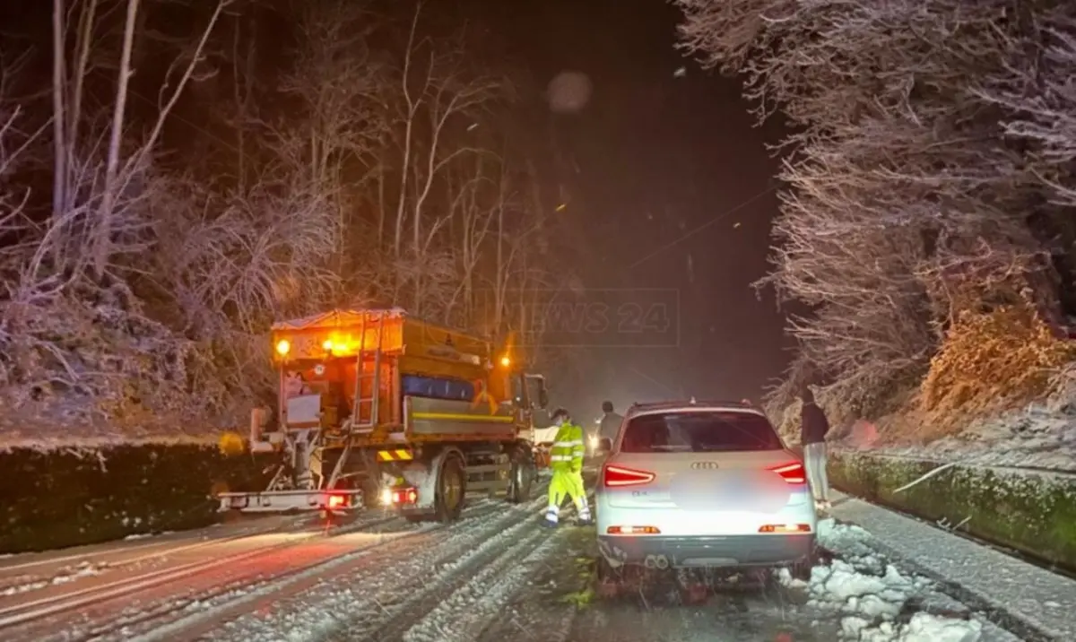
M 371 514 L 326 531 L 271 517 L 9 557 L 0 560 L 0 639 L 1020 639 L 888 558 L 866 530 L 832 519 L 820 537 L 833 559 L 808 583 L 768 572 L 734 576 L 688 605 L 668 576 L 598 597 L 593 530 L 540 528 L 542 503 L 478 500 L 449 526 Z

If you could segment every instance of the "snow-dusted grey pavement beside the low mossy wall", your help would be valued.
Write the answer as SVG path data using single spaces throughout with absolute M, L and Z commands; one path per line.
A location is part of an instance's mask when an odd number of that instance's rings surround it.
M 853 558 L 855 555 L 870 557 L 873 551 L 883 557 L 901 559 L 905 572 L 910 569 L 911 572 L 944 581 L 948 593 L 958 594 L 953 597 L 976 609 L 991 611 L 993 619 L 1005 622 L 1014 632 L 1076 640 L 1076 581 L 839 494 L 831 515 L 856 525 L 823 523 L 825 526 L 821 527 L 820 537 L 835 552 L 841 553 L 845 546 L 851 546 L 848 554 Z M 850 542 L 861 534 L 864 536 L 861 541 Z M 916 626 L 930 630 L 932 634 L 953 634 L 932 629 L 934 625 L 922 618 Z M 908 623 L 900 634 L 912 634 L 910 627 L 911 623 Z M 963 642 L 961 638 L 957 640 Z

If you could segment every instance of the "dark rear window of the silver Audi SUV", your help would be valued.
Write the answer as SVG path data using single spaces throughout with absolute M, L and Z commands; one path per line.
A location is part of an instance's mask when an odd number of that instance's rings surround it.
M 732 453 L 784 447 L 766 417 L 744 412 L 668 412 L 627 423 L 624 453 Z

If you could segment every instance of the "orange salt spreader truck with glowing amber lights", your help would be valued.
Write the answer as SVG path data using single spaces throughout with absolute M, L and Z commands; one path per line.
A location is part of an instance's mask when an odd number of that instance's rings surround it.
M 278 323 L 272 342 L 279 402 L 251 413 L 250 445 L 283 462 L 266 490 L 221 494 L 221 511 L 451 522 L 468 493 L 529 498 L 532 416 L 549 399 L 519 354 L 398 309 Z

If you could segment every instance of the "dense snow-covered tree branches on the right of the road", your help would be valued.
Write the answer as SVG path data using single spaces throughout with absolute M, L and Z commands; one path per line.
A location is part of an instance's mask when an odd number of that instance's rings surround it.
M 886 394 L 960 309 L 1025 291 L 1057 309 L 1049 255 L 1072 254 L 1059 230 L 1076 204 L 1073 8 L 677 4 L 683 48 L 740 74 L 760 118 L 795 125 L 762 285 L 811 306 L 789 329 L 831 384 Z

